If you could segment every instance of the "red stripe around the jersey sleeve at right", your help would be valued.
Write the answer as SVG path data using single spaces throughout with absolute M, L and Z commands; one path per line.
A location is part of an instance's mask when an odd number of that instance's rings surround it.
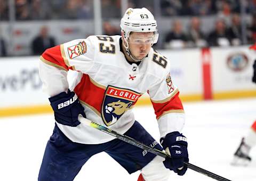
M 170 101 L 164 103 L 155 103 L 151 101 L 151 103 L 153 104 L 155 110 L 156 119 L 159 119 L 161 116 L 169 112 L 184 112 L 183 105 L 179 98 L 179 92 L 175 94 Z

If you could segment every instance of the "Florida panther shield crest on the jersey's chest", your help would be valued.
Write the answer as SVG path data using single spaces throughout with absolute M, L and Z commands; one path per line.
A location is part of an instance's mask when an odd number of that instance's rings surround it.
M 108 86 L 101 106 L 101 117 L 105 125 L 115 124 L 140 96 L 129 89 Z

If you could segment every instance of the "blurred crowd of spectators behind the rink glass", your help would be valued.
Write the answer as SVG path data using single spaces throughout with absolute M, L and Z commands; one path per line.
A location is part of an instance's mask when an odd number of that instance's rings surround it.
M 155 9 L 156 2 L 160 7 L 158 13 Z M 172 18 L 169 32 L 161 34 L 164 38 L 159 48 L 183 48 L 255 43 L 256 0 L 243 2 L 244 12 L 251 17 L 251 22 L 246 22 L 245 36 L 242 36 L 240 0 L 129 0 L 128 6 L 147 7 L 156 18 Z M 16 21 L 93 19 L 93 0 L 14 0 L 14 3 Z M 102 0 L 101 13 L 104 20 L 103 34 L 119 35 L 119 27 L 108 20 L 121 18 L 121 0 Z M 201 18 L 209 15 L 215 17 L 214 28 L 203 32 L 202 26 L 205 24 L 202 24 Z M 179 18 L 186 16 L 189 17 L 189 27 L 184 28 L 185 25 Z M 8 21 L 9 18 L 9 2 L 1 0 L 0 22 Z M 231 23 L 226 23 L 227 19 Z M 54 45 L 54 37 L 48 35 L 48 29 L 44 26 L 31 42 L 31 53 L 41 54 L 45 48 Z M 6 43 L 4 38 L 0 37 L 0 56 L 5 55 Z

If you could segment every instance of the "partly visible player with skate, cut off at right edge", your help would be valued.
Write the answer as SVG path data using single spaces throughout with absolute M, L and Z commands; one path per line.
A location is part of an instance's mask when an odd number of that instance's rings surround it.
M 250 49 L 256 51 L 256 44 L 251 46 Z M 252 81 L 256 83 L 256 60 L 254 60 L 254 64 L 253 64 Z M 242 138 L 242 141 L 234 154 L 234 159 L 231 162 L 231 164 L 247 166 L 247 164 L 251 162 L 251 157 L 249 156 L 250 150 L 255 145 L 256 145 L 256 120 L 253 122 L 247 136 Z

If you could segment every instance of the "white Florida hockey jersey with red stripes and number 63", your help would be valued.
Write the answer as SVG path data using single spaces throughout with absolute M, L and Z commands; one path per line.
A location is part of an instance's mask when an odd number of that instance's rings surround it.
M 161 137 L 183 128 L 185 115 L 169 73 L 170 62 L 153 48 L 137 65 L 125 59 L 121 36 L 89 36 L 49 48 L 40 59 L 43 90 L 54 96 L 69 87 L 74 89 L 87 119 L 123 134 L 135 121 L 133 106 L 148 93 Z M 69 69 L 78 71 L 72 85 L 67 81 Z M 77 143 L 99 144 L 114 139 L 83 124 L 58 127 Z

